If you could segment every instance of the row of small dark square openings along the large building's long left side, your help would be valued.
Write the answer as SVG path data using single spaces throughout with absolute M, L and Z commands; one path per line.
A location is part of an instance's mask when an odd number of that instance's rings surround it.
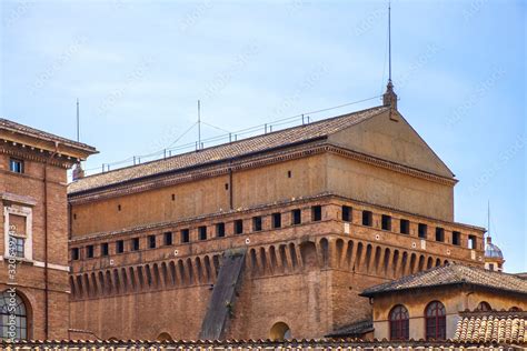
M 311 220 L 312 221 L 321 221 L 322 219 L 322 208 L 321 205 L 314 205 L 311 207 Z M 295 209 L 291 210 L 291 225 L 297 225 L 301 224 L 302 219 L 301 219 L 301 210 L 300 209 Z M 271 214 L 271 228 L 272 229 L 278 229 L 282 227 L 282 213 L 276 212 Z M 226 235 L 226 228 L 223 222 L 219 222 L 215 224 L 216 229 L 216 237 L 217 238 L 223 238 Z M 262 227 L 262 217 L 261 215 L 256 215 L 252 218 L 252 231 L 258 232 L 264 230 Z M 245 231 L 243 229 L 243 220 L 238 219 L 233 221 L 233 232 L 235 234 L 242 234 Z M 200 225 L 198 227 L 198 240 L 207 240 L 209 237 L 208 232 L 208 227 L 207 225 Z M 130 244 L 130 251 L 139 251 L 140 248 L 140 240 L 139 238 L 132 238 Z M 180 241 L 181 243 L 188 243 L 190 242 L 190 229 L 182 229 L 180 231 Z M 163 242 L 162 244 L 168 247 L 172 245 L 173 242 L 173 233 L 172 232 L 165 232 L 163 233 Z M 157 247 L 157 235 L 151 234 L 147 237 L 147 245 L 148 249 L 156 249 Z M 100 255 L 101 257 L 107 257 L 109 255 L 109 243 L 105 242 L 101 243 L 100 245 Z M 117 240 L 116 241 L 116 253 L 123 253 L 125 252 L 125 240 Z M 95 245 L 87 245 L 86 247 L 86 257 L 88 259 L 91 259 L 95 257 Z M 73 248 L 71 250 L 71 259 L 72 260 L 79 260 L 80 259 L 80 249 L 79 248 Z

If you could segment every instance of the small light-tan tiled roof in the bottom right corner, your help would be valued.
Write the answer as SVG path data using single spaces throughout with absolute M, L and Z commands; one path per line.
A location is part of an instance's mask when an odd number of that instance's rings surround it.
M 508 313 L 465 315 L 457 323 L 454 340 L 468 343 L 527 344 L 527 313 Z

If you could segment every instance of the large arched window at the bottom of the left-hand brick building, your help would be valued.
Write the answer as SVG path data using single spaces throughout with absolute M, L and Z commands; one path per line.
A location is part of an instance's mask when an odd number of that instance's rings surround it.
M 28 314 L 22 299 L 10 290 L 0 294 L 0 339 L 28 339 Z

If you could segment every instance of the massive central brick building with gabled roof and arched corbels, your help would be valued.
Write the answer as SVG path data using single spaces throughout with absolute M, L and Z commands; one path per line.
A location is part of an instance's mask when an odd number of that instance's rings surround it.
M 317 338 L 370 317 L 368 287 L 483 267 L 396 102 L 71 183 L 73 338 Z

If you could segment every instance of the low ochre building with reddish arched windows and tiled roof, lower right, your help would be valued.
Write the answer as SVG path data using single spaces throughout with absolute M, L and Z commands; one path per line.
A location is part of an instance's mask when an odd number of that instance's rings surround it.
M 361 295 L 374 305 L 377 339 L 525 341 L 527 281 L 515 274 L 446 264 L 368 288 Z

